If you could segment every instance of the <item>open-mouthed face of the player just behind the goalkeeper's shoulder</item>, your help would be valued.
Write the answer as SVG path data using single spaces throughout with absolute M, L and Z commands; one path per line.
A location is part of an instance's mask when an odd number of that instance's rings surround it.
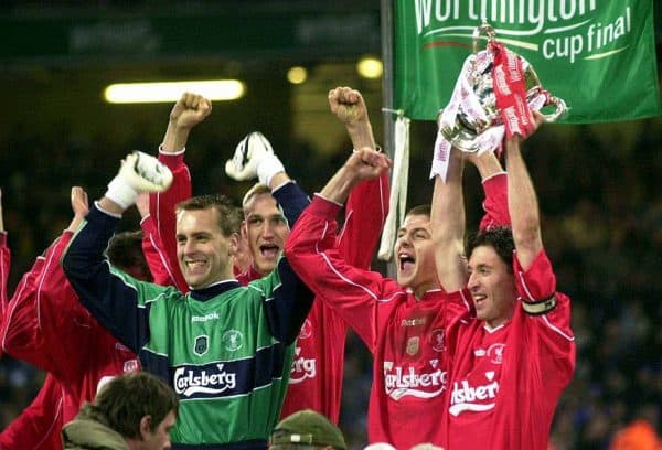
M 248 242 L 253 266 L 260 275 L 274 270 L 289 232 L 287 221 L 271 194 L 257 194 L 245 205 L 242 233 Z

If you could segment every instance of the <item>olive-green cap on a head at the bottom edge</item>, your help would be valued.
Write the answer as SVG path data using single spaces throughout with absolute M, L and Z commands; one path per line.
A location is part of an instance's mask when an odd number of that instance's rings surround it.
M 312 409 L 303 409 L 286 417 L 274 428 L 269 449 L 346 450 L 342 431 L 329 419 Z

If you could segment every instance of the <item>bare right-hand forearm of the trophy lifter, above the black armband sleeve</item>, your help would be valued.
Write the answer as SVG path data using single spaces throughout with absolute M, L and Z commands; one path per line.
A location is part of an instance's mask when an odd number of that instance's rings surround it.
M 543 119 L 534 113 L 536 124 Z M 543 249 L 541 219 L 537 197 L 533 182 L 522 157 L 521 138 L 515 135 L 505 143 L 505 161 L 508 169 L 508 204 L 512 221 L 513 239 L 517 251 L 517 260 L 527 270 L 535 257 Z

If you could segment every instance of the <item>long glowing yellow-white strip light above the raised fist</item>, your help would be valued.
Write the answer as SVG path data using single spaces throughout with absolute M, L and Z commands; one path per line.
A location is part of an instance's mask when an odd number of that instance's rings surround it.
M 237 79 L 122 83 L 107 86 L 104 98 L 113 104 L 170 103 L 183 93 L 200 94 L 210 100 L 236 100 L 244 96 L 246 86 Z

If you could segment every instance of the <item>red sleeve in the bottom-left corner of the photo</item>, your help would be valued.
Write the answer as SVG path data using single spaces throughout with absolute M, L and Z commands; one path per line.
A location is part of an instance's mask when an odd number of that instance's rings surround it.
M 2 432 L 0 449 L 62 448 L 62 387 L 47 375 L 38 396 Z

